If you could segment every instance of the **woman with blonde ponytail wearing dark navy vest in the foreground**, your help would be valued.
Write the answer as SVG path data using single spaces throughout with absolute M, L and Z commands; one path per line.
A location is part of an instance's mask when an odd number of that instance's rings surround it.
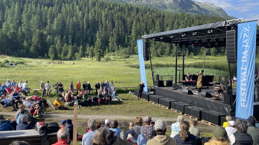
M 182 121 L 180 128 L 179 134 L 174 136 L 176 143 L 178 145 L 196 145 L 196 137 L 188 131 L 190 128 L 189 123 Z

